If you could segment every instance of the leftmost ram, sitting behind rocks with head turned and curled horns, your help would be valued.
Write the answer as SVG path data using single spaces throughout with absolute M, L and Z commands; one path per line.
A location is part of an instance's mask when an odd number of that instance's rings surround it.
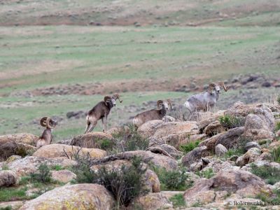
M 52 142 L 52 129 L 55 128 L 57 122 L 55 120 L 52 120 L 51 118 L 44 117 L 40 120 L 40 124 L 43 127 L 46 127 L 46 129 L 43 131 L 43 134 L 36 142 L 36 147 L 45 146 Z

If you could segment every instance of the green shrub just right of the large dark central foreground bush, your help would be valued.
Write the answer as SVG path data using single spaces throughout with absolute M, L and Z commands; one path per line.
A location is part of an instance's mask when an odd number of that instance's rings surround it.
M 188 174 L 186 169 L 167 171 L 163 167 L 153 166 L 153 171 L 158 175 L 161 190 L 179 190 L 183 191 L 190 188 L 193 183 L 188 183 Z

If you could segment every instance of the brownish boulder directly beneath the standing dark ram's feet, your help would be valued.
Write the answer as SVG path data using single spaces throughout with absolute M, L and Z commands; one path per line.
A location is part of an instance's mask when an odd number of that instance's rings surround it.
M 83 148 L 100 148 L 101 142 L 104 139 L 112 140 L 113 137 L 109 133 L 89 132 L 89 133 L 74 137 L 71 140 L 70 145 L 80 146 Z

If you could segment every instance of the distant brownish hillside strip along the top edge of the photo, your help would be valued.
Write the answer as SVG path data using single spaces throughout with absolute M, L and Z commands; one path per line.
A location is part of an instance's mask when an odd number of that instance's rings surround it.
M 279 25 L 278 0 L 4 0 L 0 25 Z M 246 20 L 248 18 L 248 20 Z M 229 23 L 229 22 L 228 22 Z

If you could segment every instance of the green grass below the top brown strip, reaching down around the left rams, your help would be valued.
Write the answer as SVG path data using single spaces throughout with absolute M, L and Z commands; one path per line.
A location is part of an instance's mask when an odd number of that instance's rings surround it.
M 260 58 L 270 61 L 276 56 L 273 53 L 280 30 L 276 27 L 263 30 L 257 27 L 28 26 L 0 27 L 0 34 L 3 37 L 0 38 L 3 46 L 0 135 L 16 132 L 40 135 L 43 128 L 36 122 L 43 116 L 59 116 L 64 120 L 53 130 L 53 141 L 60 141 L 85 130 L 84 118 L 66 120 L 66 113 L 90 110 L 103 99 L 103 93 L 45 97 L 18 97 L 13 93 L 76 83 L 113 82 L 120 89 L 121 83 L 142 80 L 188 83 L 190 77 L 203 85 L 239 73 L 260 72 L 263 71 Z M 267 50 L 263 52 L 263 48 Z M 274 76 L 278 71 L 278 64 L 266 62 L 267 75 Z M 191 93 L 126 90 L 121 94 L 123 104 L 111 111 L 109 128 L 132 121 L 130 118 L 136 113 L 127 112 L 127 106 L 146 108 L 143 102 L 186 98 Z M 237 91 L 227 94 L 237 94 Z M 102 131 L 101 122 L 94 130 Z

